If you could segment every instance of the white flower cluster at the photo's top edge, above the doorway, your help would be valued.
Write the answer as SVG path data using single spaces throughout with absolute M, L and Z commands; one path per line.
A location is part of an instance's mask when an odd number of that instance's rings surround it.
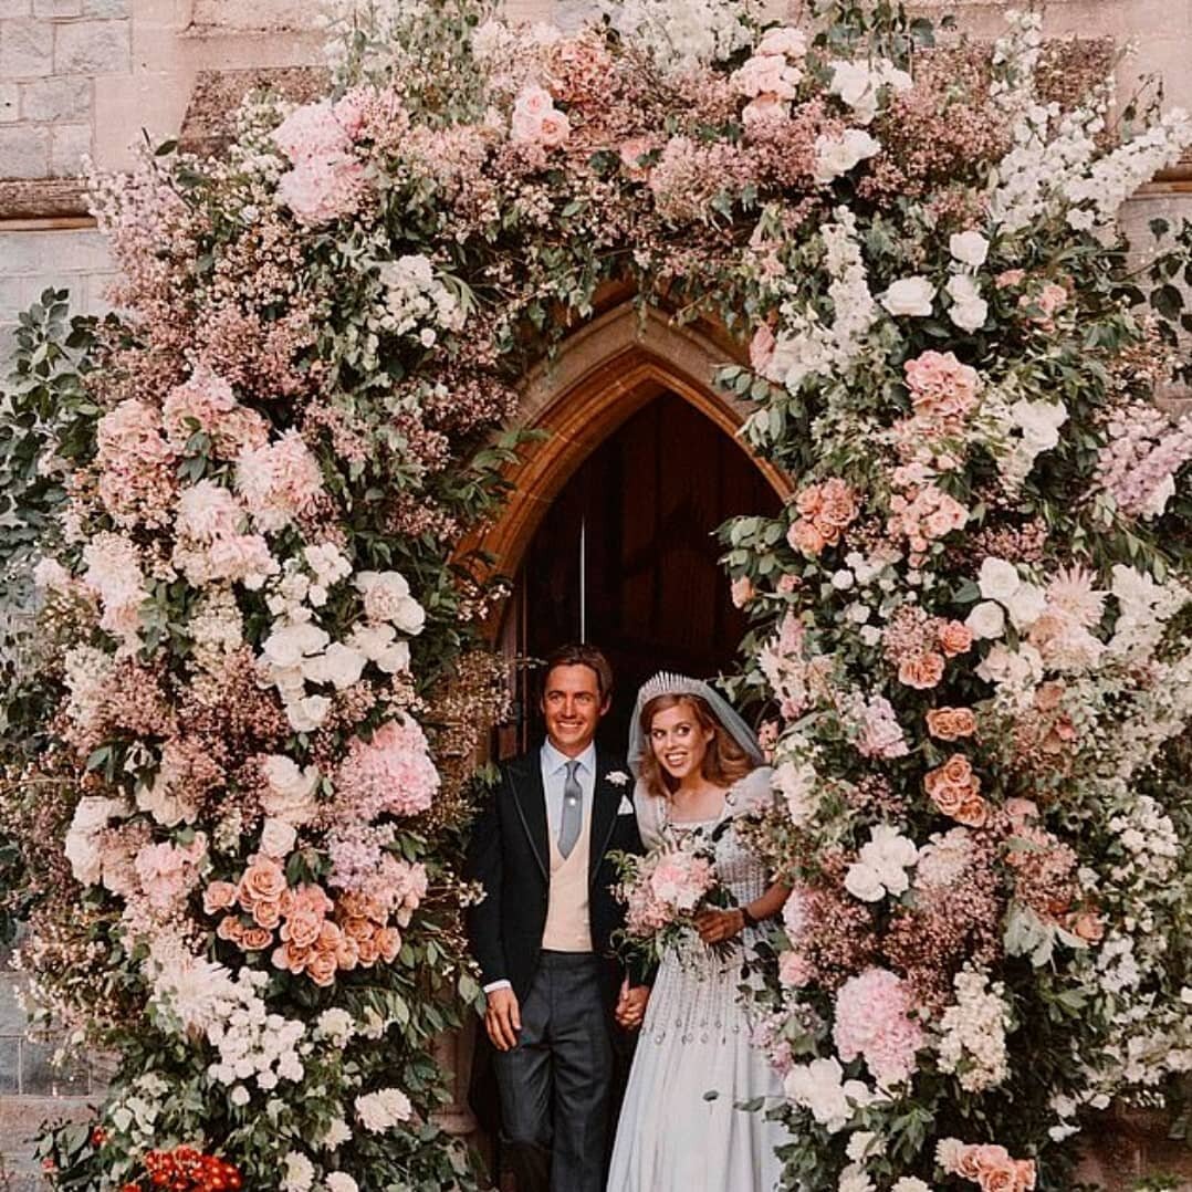
M 668 75 L 690 74 L 750 44 L 750 5 L 733 0 L 600 0 L 600 12 Z

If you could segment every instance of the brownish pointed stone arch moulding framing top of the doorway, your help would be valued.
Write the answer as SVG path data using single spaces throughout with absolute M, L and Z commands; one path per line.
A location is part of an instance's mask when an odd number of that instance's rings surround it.
M 497 571 L 513 575 L 569 477 L 621 423 L 664 392 L 695 406 L 737 442 L 780 497 L 789 497 L 789 477 L 753 455 L 737 435 L 752 408 L 713 387 L 716 370 L 740 360 L 740 347 L 720 329 L 678 324 L 656 308 L 640 311 L 632 300 L 585 323 L 527 375 L 515 421 L 546 432 L 546 437 L 523 448 L 508 473 L 513 493 L 502 515 L 466 547 L 486 552 Z

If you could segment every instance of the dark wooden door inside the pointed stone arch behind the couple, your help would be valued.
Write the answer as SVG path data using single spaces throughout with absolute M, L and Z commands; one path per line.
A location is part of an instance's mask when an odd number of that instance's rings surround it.
M 601 735 L 623 749 L 638 687 L 656 670 L 708 678 L 733 665 L 745 633 L 718 563 L 718 527 L 772 514 L 780 499 L 741 448 L 681 397 L 635 414 L 555 498 L 516 577 L 507 647 L 526 659 L 581 638 L 608 654 L 614 708 Z M 527 713 L 502 741 L 540 732 L 535 675 L 522 670 Z

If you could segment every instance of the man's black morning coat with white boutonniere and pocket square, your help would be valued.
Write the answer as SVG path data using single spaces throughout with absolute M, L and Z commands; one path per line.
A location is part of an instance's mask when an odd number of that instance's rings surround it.
M 633 805 L 632 780 L 609 782 L 610 774 L 628 776 L 614 755 L 596 751 L 592 789 L 591 844 L 588 869 L 588 909 L 592 950 L 611 957 L 610 937 L 625 924 L 625 907 L 613 896 L 617 875 L 608 853 L 641 852 L 638 820 L 620 814 Z M 468 874 L 484 886 L 485 898 L 470 907 L 467 933 L 472 955 L 480 964 L 484 985 L 507 980 L 519 1001 L 524 1001 L 538 971 L 546 927 L 551 880 L 546 794 L 542 762 L 533 750 L 499 766 L 499 780 L 472 830 Z M 606 995 L 616 993 L 620 968 L 608 966 Z M 634 980 L 640 980 L 634 974 Z

